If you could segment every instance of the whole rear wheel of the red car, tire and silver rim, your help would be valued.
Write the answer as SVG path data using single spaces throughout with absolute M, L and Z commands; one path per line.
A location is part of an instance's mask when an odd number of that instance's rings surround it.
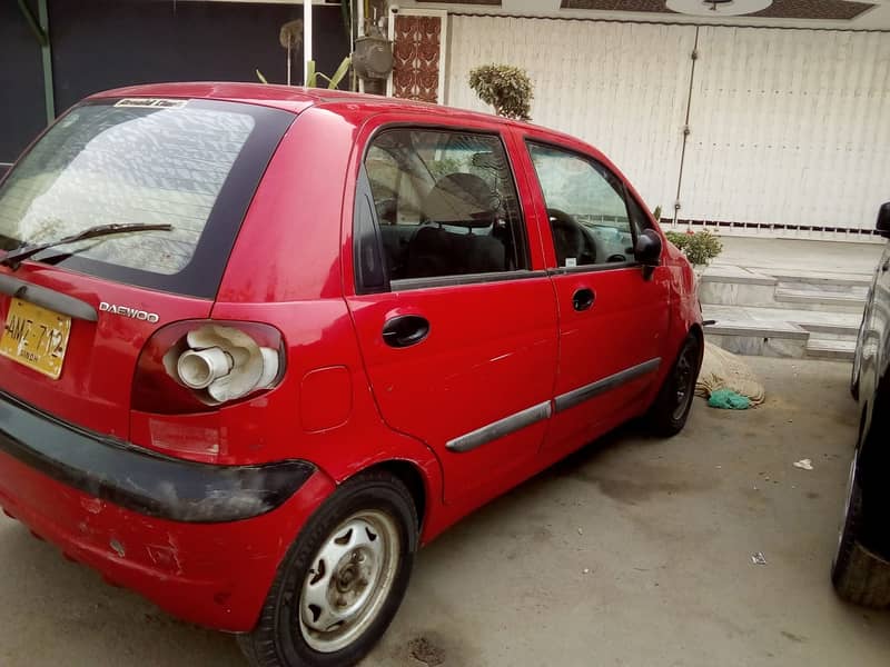
M 253 633 L 255 667 L 355 665 L 402 604 L 417 549 L 411 494 L 384 471 L 345 482 L 285 557 Z

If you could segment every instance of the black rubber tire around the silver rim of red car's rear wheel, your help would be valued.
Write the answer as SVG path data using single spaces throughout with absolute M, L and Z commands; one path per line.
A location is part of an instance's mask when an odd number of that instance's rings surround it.
M 356 608 L 365 610 L 372 606 L 372 600 L 378 600 L 373 605 L 377 607 L 376 611 L 365 616 L 364 629 L 354 640 L 329 653 L 317 650 L 310 645 L 313 630 L 300 617 L 303 591 L 305 586 L 310 585 L 310 570 L 314 579 L 318 578 L 318 565 L 322 561 L 316 565 L 316 559 L 322 558 L 323 548 L 330 545 L 332 540 L 340 544 L 335 536 L 347 521 L 363 512 L 385 517 L 398 532 L 398 546 L 390 551 L 397 556 L 395 566 L 392 566 L 392 583 L 387 585 L 385 595 L 375 598 L 377 594 L 373 593 L 362 605 L 356 605 Z M 412 496 L 395 476 L 386 471 L 370 471 L 344 482 L 310 517 L 290 546 L 278 568 L 256 628 L 239 635 L 238 643 L 249 664 L 254 667 L 347 667 L 358 663 L 386 631 L 402 604 L 417 550 L 417 511 Z M 355 563 L 354 555 L 348 561 L 344 559 L 338 563 Z M 364 584 L 367 586 L 367 581 Z M 354 595 L 359 599 L 363 597 L 360 593 Z M 344 627 L 348 627 L 347 624 Z M 330 633 L 316 636 L 324 637 L 326 634 Z

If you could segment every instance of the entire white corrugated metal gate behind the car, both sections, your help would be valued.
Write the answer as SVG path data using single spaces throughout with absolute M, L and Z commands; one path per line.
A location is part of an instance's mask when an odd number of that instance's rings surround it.
M 535 122 L 612 158 L 650 208 L 675 201 L 696 28 L 452 17 L 447 103 L 525 68 Z M 890 33 L 701 27 L 680 217 L 870 229 L 890 200 Z

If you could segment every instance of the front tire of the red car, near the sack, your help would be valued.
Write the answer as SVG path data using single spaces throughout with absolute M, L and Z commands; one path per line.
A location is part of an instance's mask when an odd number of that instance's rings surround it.
M 701 339 L 695 334 L 686 336 L 646 415 L 649 428 L 656 436 L 670 438 L 686 425 L 702 366 L 702 352 Z

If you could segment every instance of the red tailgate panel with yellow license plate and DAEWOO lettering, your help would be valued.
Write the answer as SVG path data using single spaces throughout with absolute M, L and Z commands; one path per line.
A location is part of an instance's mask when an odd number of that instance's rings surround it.
M 52 267 L 0 270 L 6 287 L 3 278 L 14 279 L 19 296 L 0 295 L 0 391 L 121 439 L 129 435 L 134 371 L 148 338 L 166 322 L 207 318 L 212 306 Z M 82 309 L 68 307 L 75 302 Z

